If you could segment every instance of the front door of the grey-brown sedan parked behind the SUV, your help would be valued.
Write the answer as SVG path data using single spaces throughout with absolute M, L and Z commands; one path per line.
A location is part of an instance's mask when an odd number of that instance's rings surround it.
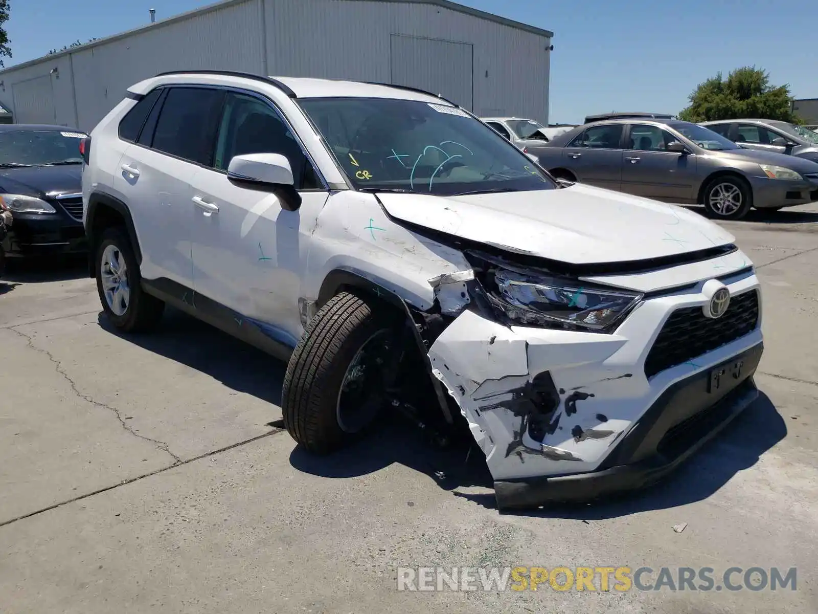
M 658 126 L 631 124 L 625 138 L 629 147 L 622 162 L 622 192 L 658 201 L 694 202 L 696 156 L 667 151 L 667 145 L 678 140 Z

